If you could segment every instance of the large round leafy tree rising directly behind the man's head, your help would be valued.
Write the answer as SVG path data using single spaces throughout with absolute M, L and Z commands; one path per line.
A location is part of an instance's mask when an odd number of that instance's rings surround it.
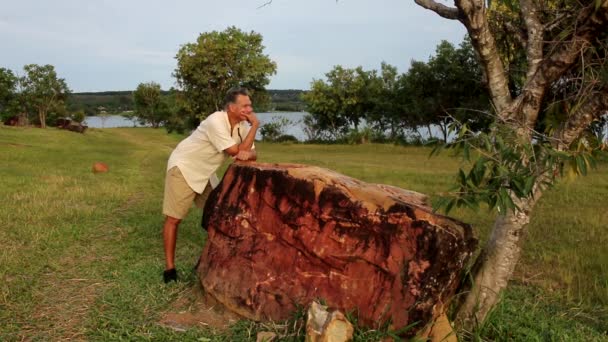
M 260 34 L 236 27 L 202 33 L 195 43 L 183 45 L 176 56 L 174 76 L 190 115 L 204 117 L 220 110 L 224 95 L 235 86 L 252 92 L 256 108 L 267 104 L 265 86 L 276 72 L 276 64 L 263 51 Z

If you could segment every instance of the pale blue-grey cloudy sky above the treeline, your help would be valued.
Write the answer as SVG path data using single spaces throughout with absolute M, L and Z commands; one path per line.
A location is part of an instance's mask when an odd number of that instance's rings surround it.
M 0 0 L 0 67 L 52 64 L 73 92 L 175 86 L 180 46 L 236 26 L 277 63 L 268 89 L 309 89 L 335 65 L 405 72 L 464 27 L 411 0 Z

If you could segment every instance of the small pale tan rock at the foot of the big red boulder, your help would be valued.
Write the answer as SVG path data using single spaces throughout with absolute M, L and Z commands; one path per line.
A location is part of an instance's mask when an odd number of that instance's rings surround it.
M 327 311 L 316 301 L 310 304 L 306 319 L 306 342 L 347 342 L 353 339 L 352 324 L 340 311 Z

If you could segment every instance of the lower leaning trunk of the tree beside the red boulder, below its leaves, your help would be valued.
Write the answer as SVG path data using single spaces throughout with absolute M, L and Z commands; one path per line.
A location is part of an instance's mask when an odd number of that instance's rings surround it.
M 492 233 L 471 270 L 472 285 L 464 289 L 465 296 L 456 313 L 460 327 L 472 330 L 499 302 L 519 262 L 532 209 L 541 195 L 542 190 L 535 186 L 533 198 L 520 200 L 513 196 L 513 202 L 521 211 L 509 211 L 494 222 Z

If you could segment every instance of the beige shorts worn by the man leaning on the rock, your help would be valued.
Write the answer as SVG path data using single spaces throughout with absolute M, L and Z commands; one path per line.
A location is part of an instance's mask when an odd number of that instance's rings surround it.
M 188 214 L 192 203 L 202 209 L 211 190 L 211 185 L 207 183 L 202 194 L 194 192 L 179 168 L 174 166 L 167 171 L 165 176 L 163 214 L 181 220 Z

